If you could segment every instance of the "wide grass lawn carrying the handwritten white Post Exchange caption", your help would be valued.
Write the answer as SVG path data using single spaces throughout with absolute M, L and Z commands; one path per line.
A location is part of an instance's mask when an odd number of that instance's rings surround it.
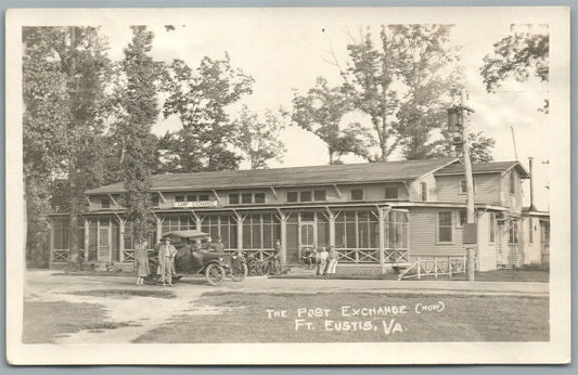
M 442 311 L 441 301 L 444 303 Z M 233 308 L 184 315 L 136 342 L 350 342 L 549 340 L 549 299 L 513 296 L 416 296 L 350 293 L 206 293 L 195 305 Z M 421 303 L 421 305 L 419 305 Z M 429 307 L 429 310 L 421 310 Z M 344 307 L 346 310 L 342 310 Z M 360 310 L 374 308 L 374 311 Z M 380 310 L 378 308 L 382 307 Z M 396 308 L 394 308 L 396 307 Z M 404 308 L 403 308 L 404 307 Z M 318 308 L 313 316 L 299 308 Z M 416 313 L 416 308 L 421 313 Z M 389 310 L 387 310 L 389 309 Z M 397 314 L 395 313 L 397 309 Z M 437 309 L 437 310 L 436 310 Z M 354 315 L 358 312 L 370 315 Z M 406 313 L 399 313 L 399 311 Z M 273 311 L 277 311 L 277 316 Z M 285 311 L 284 315 L 281 311 Z M 271 314 L 271 316 L 270 316 Z M 314 316 L 314 315 L 322 316 Z M 301 319 L 300 321 L 296 321 Z M 347 322 L 347 323 L 346 323 Z

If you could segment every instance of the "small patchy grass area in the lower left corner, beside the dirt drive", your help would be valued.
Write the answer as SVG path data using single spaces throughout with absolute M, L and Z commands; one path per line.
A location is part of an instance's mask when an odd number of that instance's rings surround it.
M 57 336 L 82 329 L 115 329 L 128 323 L 107 322 L 104 309 L 95 303 L 24 302 L 24 344 L 54 342 Z

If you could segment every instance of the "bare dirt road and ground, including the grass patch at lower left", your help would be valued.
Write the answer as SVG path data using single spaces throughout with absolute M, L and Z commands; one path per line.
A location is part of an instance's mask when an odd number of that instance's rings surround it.
M 548 315 L 545 313 L 542 316 L 543 311 L 548 311 L 548 283 L 248 277 L 241 283 L 228 280 L 222 286 L 215 287 L 203 277 L 185 277 L 169 288 L 150 285 L 137 287 L 136 279 L 126 275 L 103 277 L 56 273 L 47 270 L 26 273 L 25 342 L 175 342 L 179 341 L 175 337 L 189 332 L 191 324 L 229 324 L 229 319 L 246 319 L 247 313 L 254 314 L 252 309 L 246 308 L 254 296 L 259 296 L 257 300 L 262 310 L 269 303 L 267 296 L 271 295 L 274 296 L 275 306 L 285 305 L 288 309 L 295 309 L 303 301 L 310 300 L 311 294 L 323 294 L 327 301 L 338 299 L 344 302 L 347 296 L 356 295 L 358 303 L 363 300 L 369 303 L 375 299 L 372 296 L 382 298 L 384 295 L 410 296 L 403 298 L 413 301 L 421 297 L 435 299 L 436 296 L 445 296 L 453 301 L 467 296 L 484 296 L 489 300 L 499 299 L 501 305 L 510 303 L 512 309 L 505 309 L 504 314 L 513 312 L 521 300 L 529 300 L 540 305 L 540 309 L 539 314 L 530 316 L 526 324 L 538 324 L 540 332 L 543 332 L 544 323 L 548 331 Z M 217 296 L 215 294 L 221 297 L 211 297 Z M 306 298 L 299 298 L 299 295 Z M 222 296 L 227 298 L 223 300 Z M 478 309 L 475 303 L 464 306 L 465 310 Z M 511 324 L 508 319 L 501 321 Z M 47 326 L 51 328 L 47 329 Z M 159 337 L 158 332 L 165 336 Z M 180 341 L 194 340 L 193 336 L 187 335 L 188 338 Z M 524 339 L 526 336 L 522 332 L 517 337 Z M 544 336 L 540 337 L 538 339 Z M 215 342 L 219 341 L 216 337 Z

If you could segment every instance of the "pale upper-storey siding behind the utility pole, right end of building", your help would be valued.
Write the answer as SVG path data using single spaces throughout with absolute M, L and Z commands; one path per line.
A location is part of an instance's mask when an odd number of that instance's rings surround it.
M 466 194 L 460 194 L 460 184 L 465 178 L 463 176 L 438 176 L 437 201 L 465 204 Z M 474 201 L 476 204 L 499 205 L 500 173 L 475 174 Z M 522 188 L 522 186 L 521 186 Z

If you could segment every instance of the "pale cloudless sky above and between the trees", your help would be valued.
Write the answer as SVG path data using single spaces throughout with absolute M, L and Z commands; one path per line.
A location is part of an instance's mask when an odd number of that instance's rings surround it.
M 236 12 L 235 12 L 236 11 Z M 527 167 L 528 157 L 535 157 L 536 174 L 541 174 L 539 186 L 548 184 L 549 151 L 544 134 L 549 134 L 550 118 L 538 112 L 548 98 L 549 85 L 537 78 L 519 83 L 511 79 L 496 94 L 486 92 L 479 68 L 483 57 L 492 51 L 492 44 L 510 34 L 512 23 L 519 20 L 512 12 L 476 11 L 475 16 L 448 10 L 435 14 L 395 10 L 351 10 L 335 12 L 310 9 L 307 12 L 282 10 L 227 10 L 206 13 L 191 11 L 188 16 L 145 23 L 155 34 L 152 54 L 170 62 L 181 59 L 196 67 L 203 56 L 219 59 L 229 53 L 232 65 L 255 79 L 254 92 L 237 105 L 247 104 L 253 112 L 264 114 L 280 106 L 291 107 L 294 90 L 300 93 L 314 86 L 316 77 L 323 76 L 330 83 L 339 83 L 338 68 L 331 64 L 333 51 L 339 64 L 347 63 L 347 44 L 367 27 L 376 36 L 383 24 L 444 23 L 454 24 L 452 43 L 460 46 L 460 56 L 466 77 L 467 105 L 475 109 L 470 125 L 473 131 L 484 131 L 496 139 L 496 160 L 517 159 Z M 539 17 L 538 17 L 539 20 Z M 537 21 L 539 22 L 539 21 Z M 110 55 L 123 57 L 123 48 L 130 41 L 129 26 L 133 21 L 112 17 L 101 24 L 108 38 Z M 167 31 L 165 24 L 175 25 Z M 236 108 L 231 108 L 234 112 Z M 180 127 L 176 117 L 163 119 L 154 126 L 156 134 Z M 514 135 L 514 137 L 513 137 Z M 321 165 L 329 161 L 326 147 L 312 133 L 288 127 L 282 133 L 287 152 L 283 163 L 271 167 Z M 390 159 L 399 159 L 394 154 Z M 361 163 L 355 156 L 345 163 Z M 247 168 L 247 165 L 242 165 Z M 540 191 L 547 192 L 544 189 Z

